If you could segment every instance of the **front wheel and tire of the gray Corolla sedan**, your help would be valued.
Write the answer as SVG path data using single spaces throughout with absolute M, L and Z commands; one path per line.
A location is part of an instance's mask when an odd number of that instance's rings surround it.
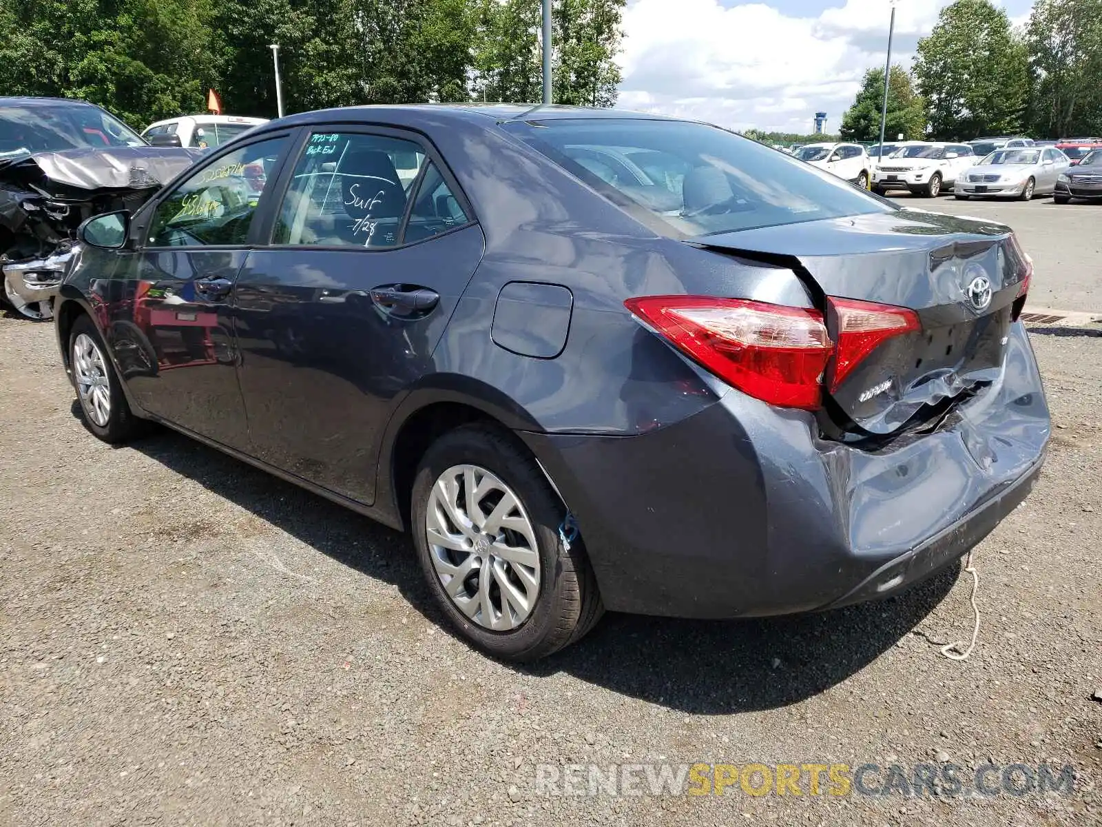
M 145 430 L 145 421 L 130 410 L 119 375 L 91 319 L 80 315 L 69 333 L 69 368 L 84 423 L 110 444 L 128 442 Z

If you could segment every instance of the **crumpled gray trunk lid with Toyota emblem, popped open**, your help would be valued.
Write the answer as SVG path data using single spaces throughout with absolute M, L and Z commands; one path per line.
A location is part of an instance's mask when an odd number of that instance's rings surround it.
M 912 310 L 921 329 L 888 339 L 830 390 L 851 430 L 890 434 L 994 382 L 1029 266 L 1011 229 L 919 210 L 736 230 L 690 244 L 790 266 L 812 300 Z M 831 337 L 836 320 L 825 312 Z M 839 417 L 838 415 L 841 415 Z M 853 429 L 851 426 L 857 426 Z

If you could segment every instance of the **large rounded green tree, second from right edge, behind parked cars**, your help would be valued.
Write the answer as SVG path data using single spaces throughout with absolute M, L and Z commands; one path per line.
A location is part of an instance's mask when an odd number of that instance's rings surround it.
M 966 140 L 1017 132 L 1028 96 L 1024 41 L 988 0 L 957 0 L 941 10 L 915 57 L 933 138 Z

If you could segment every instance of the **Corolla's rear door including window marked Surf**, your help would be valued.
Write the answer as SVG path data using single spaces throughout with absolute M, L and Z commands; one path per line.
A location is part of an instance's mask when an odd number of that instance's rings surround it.
M 237 282 L 238 377 L 255 455 L 371 504 L 396 397 L 432 352 L 483 235 L 422 137 L 302 137 L 266 241 Z

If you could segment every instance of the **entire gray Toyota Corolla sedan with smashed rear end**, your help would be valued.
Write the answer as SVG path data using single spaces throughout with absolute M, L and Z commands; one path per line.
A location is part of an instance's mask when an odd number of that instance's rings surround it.
M 461 635 L 895 594 L 1049 437 L 1005 226 L 715 127 L 366 107 L 87 222 L 57 335 L 88 429 L 162 422 L 413 536 Z

